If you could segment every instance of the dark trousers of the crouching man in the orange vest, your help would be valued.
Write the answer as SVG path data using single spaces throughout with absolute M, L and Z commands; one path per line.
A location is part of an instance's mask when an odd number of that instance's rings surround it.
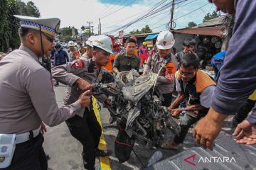
M 198 113 L 197 117 L 192 117 L 191 115 L 188 115 L 187 113 L 185 113 L 183 115 L 183 117 L 181 118 L 181 123 L 180 123 L 181 132 L 178 135 L 175 135 L 174 142 L 176 144 L 183 143 L 183 141 L 185 140 L 185 137 L 188 133 L 189 128 L 191 128 L 191 126 L 193 124 L 195 124 L 198 120 L 200 120 L 202 117 L 204 117 L 207 114 L 207 112 L 208 112 L 208 110 L 201 111 Z

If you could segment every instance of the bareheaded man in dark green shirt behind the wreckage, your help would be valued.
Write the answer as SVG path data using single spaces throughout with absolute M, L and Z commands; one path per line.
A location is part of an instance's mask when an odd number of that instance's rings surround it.
M 136 69 L 139 72 L 140 60 L 137 55 L 134 55 L 136 41 L 128 38 L 125 44 L 125 51 L 119 53 L 114 58 L 113 72 L 116 74 L 118 72 L 130 71 L 131 69 Z

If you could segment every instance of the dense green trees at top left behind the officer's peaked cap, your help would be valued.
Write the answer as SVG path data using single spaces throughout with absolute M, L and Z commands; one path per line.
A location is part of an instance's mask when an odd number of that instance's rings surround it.
M 0 51 L 6 52 L 8 47 L 17 48 L 20 45 L 18 37 L 19 21 L 14 15 L 36 16 L 40 13 L 33 2 L 27 4 L 21 0 L 0 0 Z

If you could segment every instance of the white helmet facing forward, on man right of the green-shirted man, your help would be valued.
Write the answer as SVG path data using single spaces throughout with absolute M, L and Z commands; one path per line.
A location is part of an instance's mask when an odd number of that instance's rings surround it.
M 169 30 L 164 30 L 157 36 L 156 47 L 160 50 L 171 49 L 174 46 L 174 35 Z

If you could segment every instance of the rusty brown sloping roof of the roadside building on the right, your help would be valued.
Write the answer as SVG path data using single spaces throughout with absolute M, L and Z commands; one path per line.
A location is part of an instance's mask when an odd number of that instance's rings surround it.
M 183 28 L 179 30 L 173 30 L 172 32 L 196 34 L 196 35 L 215 35 L 222 38 L 224 28 L 225 26 L 211 26 L 211 27 L 203 27 L 203 28 Z

